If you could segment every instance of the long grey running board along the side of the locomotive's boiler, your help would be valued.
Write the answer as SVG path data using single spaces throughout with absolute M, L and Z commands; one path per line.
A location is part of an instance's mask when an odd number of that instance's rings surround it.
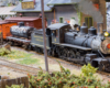
M 84 46 L 78 46 L 78 45 L 72 45 L 72 44 L 65 44 L 65 43 L 53 43 L 56 45 L 62 45 L 62 46 L 67 46 L 67 47 L 74 47 L 74 48 L 79 48 L 79 50 L 84 50 L 84 51 L 91 51 L 91 48 L 89 47 L 84 47 Z

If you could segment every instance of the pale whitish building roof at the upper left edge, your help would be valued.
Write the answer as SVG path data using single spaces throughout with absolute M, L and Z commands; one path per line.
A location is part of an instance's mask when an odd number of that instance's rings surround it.
M 15 7 L 0 7 L 0 15 L 14 15 L 15 12 L 10 12 Z

